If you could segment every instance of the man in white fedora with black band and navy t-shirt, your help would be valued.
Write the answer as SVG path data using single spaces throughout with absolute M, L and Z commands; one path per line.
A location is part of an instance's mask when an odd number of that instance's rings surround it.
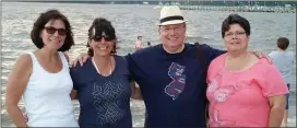
M 185 43 L 186 20 L 176 5 L 163 7 L 158 26 L 162 44 L 127 56 L 145 103 L 145 126 L 206 127 L 206 70 L 225 51 Z M 80 63 L 86 58 L 80 56 Z

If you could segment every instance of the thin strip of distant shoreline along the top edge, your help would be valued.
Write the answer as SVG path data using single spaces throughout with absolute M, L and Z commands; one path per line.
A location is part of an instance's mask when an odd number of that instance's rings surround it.
M 213 7 L 245 7 L 245 5 L 259 5 L 259 7 L 292 7 L 296 8 L 295 0 L 285 0 L 285 1 L 253 1 L 253 0 L 245 0 L 245 1 L 230 1 L 230 0 L 221 0 L 221 1 L 206 1 L 206 0 L 2 0 L 2 2 L 47 2 L 47 3 L 98 3 L 98 4 L 152 4 L 152 5 L 169 5 L 169 4 L 178 4 L 178 5 L 213 5 Z

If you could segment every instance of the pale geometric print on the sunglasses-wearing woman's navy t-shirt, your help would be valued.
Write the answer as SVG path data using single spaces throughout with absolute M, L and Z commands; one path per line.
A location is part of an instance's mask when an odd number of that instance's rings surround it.
M 93 105 L 97 110 L 97 119 L 102 123 L 102 126 L 114 126 L 123 117 L 122 113 L 119 113 L 121 101 L 114 102 L 115 98 L 124 97 L 121 93 L 123 92 L 121 86 L 121 83 L 116 84 L 110 81 L 106 81 L 104 85 L 94 83 L 92 94 L 95 101 Z

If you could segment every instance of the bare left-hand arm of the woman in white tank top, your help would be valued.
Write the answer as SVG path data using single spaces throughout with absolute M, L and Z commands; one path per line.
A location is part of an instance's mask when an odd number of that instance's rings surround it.
M 32 72 L 29 55 L 22 55 L 15 62 L 8 79 L 5 105 L 9 116 L 16 127 L 27 127 L 22 110 L 17 106 Z

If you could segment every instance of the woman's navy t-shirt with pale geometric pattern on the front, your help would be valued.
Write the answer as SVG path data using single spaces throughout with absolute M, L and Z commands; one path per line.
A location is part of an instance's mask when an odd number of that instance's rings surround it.
M 116 68 L 109 77 L 97 73 L 91 58 L 83 67 L 71 68 L 81 106 L 80 127 L 132 127 L 128 63 L 120 56 L 115 56 L 115 60 Z

